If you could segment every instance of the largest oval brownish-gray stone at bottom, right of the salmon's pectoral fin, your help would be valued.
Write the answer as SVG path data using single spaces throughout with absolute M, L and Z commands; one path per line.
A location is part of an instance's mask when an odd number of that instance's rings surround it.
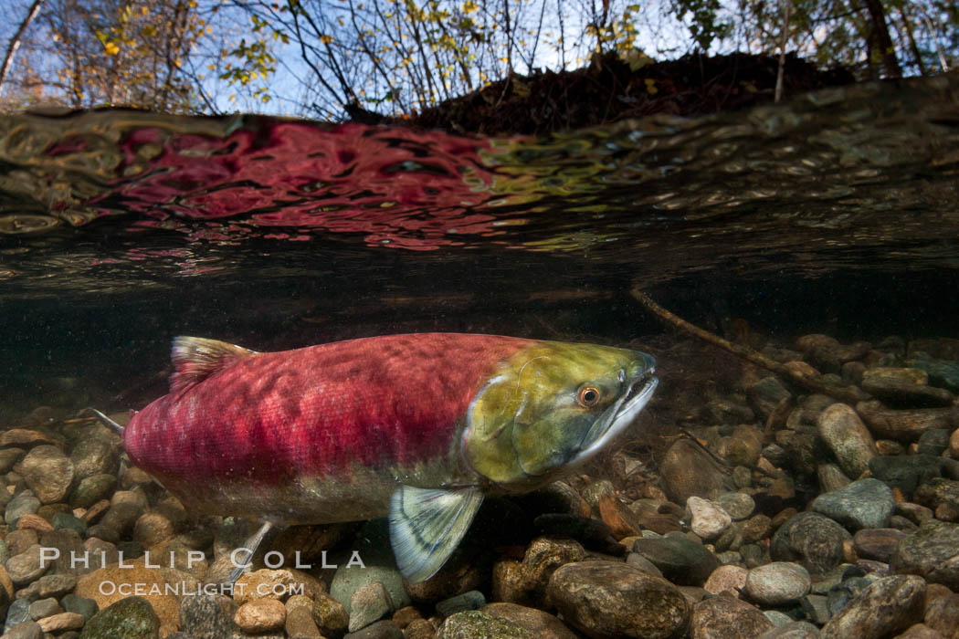
M 568 563 L 552 574 L 547 592 L 567 623 L 594 637 L 679 637 L 690 619 L 674 585 L 620 561 Z

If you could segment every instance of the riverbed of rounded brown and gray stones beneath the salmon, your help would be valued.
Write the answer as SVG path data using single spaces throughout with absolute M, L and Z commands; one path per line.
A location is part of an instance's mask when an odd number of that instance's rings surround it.
M 0 424 L 3 637 L 959 637 L 959 341 L 762 353 L 861 400 L 661 367 L 656 454 L 489 500 L 415 585 L 374 521 L 279 532 L 224 591 L 247 522 L 187 513 L 102 425 L 36 408 Z

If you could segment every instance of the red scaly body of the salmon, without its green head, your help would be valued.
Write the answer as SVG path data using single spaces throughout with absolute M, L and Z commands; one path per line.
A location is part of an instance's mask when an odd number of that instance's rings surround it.
M 286 499 L 297 508 L 285 518 L 328 518 L 292 491 L 305 480 L 348 484 L 358 470 L 372 491 L 377 469 L 446 461 L 470 400 L 529 343 L 417 333 L 279 353 L 235 347 L 201 375 L 175 362 L 173 390 L 133 417 L 124 445 L 136 466 L 206 511 L 262 514 Z

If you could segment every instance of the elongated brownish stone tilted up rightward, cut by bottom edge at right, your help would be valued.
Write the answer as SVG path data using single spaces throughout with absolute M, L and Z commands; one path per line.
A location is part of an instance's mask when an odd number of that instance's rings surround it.
M 923 621 L 925 582 L 913 575 L 873 582 L 839 610 L 821 632 L 826 639 L 880 639 Z

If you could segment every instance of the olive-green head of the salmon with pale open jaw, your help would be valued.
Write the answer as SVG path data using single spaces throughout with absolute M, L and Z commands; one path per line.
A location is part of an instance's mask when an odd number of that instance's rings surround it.
M 638 351 L 535 342 L 470 403 L 464 457 L 505 490 L 549 483 L 622 434 L 656 389 L 654 366 Z

